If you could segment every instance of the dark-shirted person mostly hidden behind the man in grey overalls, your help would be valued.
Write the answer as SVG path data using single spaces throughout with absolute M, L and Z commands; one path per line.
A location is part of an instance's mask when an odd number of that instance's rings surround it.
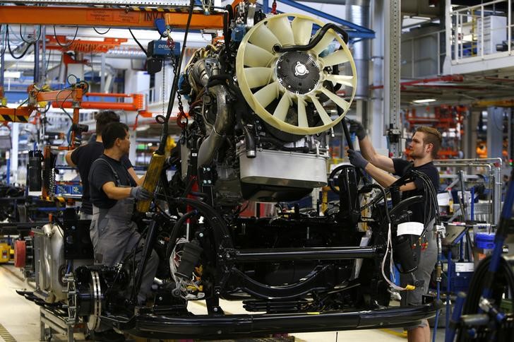
M 90 202 L 90 190 L 88 175 L 92 162 L 94 162 L 104 151 L 104 144 L 102 143 L 102 130 L 107 124 L 111 122 L 119 122 L 119 115 L 110 110 L 100 112 L 95 115 L 96 120 L 96 139 L 86 145 L 80 146 L 73 151 L 66 153 L 66 163 L 70 166 L 78 168 L 78 174 L 82 182 L 82 206 L 80 207 L 80 219 L 90 220 L 92 218 L 92 206 Z M 144 177 L 139 178 L 132 166 L 128 155 L 124 155 L 121 163 L 126 167 L 128 173 L 136 179 L 138 185 L 143 184 Z

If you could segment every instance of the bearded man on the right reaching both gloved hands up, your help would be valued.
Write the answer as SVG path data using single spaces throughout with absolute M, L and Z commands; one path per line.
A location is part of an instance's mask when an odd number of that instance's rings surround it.
M 385 155 L 376 153 L 375 148 L 371 144 L 371 140 L 366 135 L 366 130 L 360 122 L 350 120 L 350 133 L 354 133 L 359 138 L 359 147 L 361 153 L 348 150 L 349 162 L 355 167 L 365 170 L 368 175 L 381 184 L 383 187 L 389 187 L 396 178 L 393 175 L 402 177 L 410 170 L 410 162 L 400 158 L 388 158 Z M 413 170 L 423 172 L 429 177 L 434 189 L 439 187 L 439 174 L 434 166 L 433 160 L 436 158 L 439 147 L 441 146 L 441 134 L 434 128 L 421 126 L 412 136 L 410 143 L 410 157 L 414 162 Z M 386 172 L 384 172 L 386 171 Z M 393 174 L 393 175 L 391 175 Z M 422 179 L 415 179 L 414 182 L 407 183 L 400 187 L 402 191 L 402 199 L 412 196 L 424 194 L 424 183 Z M 415 290 L 404 291 L 402 293 L 402 305 L 417 305 L 422 303 L 422 295 L 426 294 L 429 289 L 431 272 L 437 261 L 437 245 L 436 235 L 434 234 L 434 218 L 435 213 L 425 213 L 425 204 L 417 203 L 409 207 L 412 211 L 412 220 L 415 222 L 426 223 L 426 218 L 430 218 L 429 226 L 426 227 L 425 236 L 422 236 L 422 242 L 427 242 L 426 249 L 422 249 L 419 266 L 414 271 L 414 276 L 418 280 L 423 280 L 424 285 Z M 408 275 L 400 275 L 402 287 L 412 281 Z M 405 327 L 407 330 L 408 341 L 428 342 L 430 341 L 429 324 L 424 319 L 417 326 Z

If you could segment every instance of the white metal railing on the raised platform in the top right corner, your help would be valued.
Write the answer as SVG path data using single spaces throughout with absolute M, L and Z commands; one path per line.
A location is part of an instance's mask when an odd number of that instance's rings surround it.
M 512 0 L 496 0 L 451 10 L 447 43 L 453 63 L 511 54 L 511 6 Z

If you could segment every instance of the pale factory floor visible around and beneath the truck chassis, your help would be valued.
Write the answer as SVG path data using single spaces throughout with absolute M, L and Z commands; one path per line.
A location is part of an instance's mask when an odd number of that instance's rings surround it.
M 40 341 L 40 309 L 16 293 L 19 289 L 31 289 L 32 283 L 21 280 L 21 273 L 10 264 L 0 264 L 0 342 Z M 239 302 L 222 301 L 227 313 L 244 313 Z M 189 310 L 195 314 L 205 313 L 203 302 L 191 302 Z M 323 333 L 292 334 L 296 341 L 407 341 L 401 329 L 380 329 L 361 331 L 330 331 Z M 444 341 L 444 330 L 439 329 L 436 341 Z M 76 334 L 77 341 L 83 341 L 82 334 Z M 66 341 L 66 336 L 56 335 L 52 341 Z M 145 341 L 138 339 L 138 341 Z M 248 341 L 248 340 L 246 340 Z

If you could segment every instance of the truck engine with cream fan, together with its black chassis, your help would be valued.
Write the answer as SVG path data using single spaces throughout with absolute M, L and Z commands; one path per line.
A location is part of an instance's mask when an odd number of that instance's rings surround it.
M 406 204 L 388 208 L 386 191 L 362 186 L 351 165 L 327 176 L 330 133 L 345 124 L 358 81 L 345 30 L 296 13 L 265 15 L 245 1 L 225 18 L 224 38 L 196 50 L 177 75 L 179 105 L 187 101 L 189 112 L 177 119 L 177 148 L 157 167 L 153 204 L 138 207 L 143 249 L 114 267 L 88 264 L 87 253 L 74 264 L 81 239 L 67 237 L 88 225 L 69 218 L 44 227 L 41 243 L 58 239 L 64 258 L 42 277 L 63 281 L 35 293 L 36 302 L 60 307 L 70 324 L 104 322 L 149 338 L 373 329 L 434 316 L 434 304 L 388 307 L 390 235 L 408 220 Z M 177 170 L 171 179 L 169 167 Z M 339 196 L 326 211 L 280 207 L 325 185 Z M 248 201 L 275 203 L 275 212 L 243 217 Z M 160 257 L 155 299 L 141 306 L 152 249 Z M 242 301 L 248 313 L 225 314 L 222 299 Z M 208 314 L 189 312 L 197 300 Z

